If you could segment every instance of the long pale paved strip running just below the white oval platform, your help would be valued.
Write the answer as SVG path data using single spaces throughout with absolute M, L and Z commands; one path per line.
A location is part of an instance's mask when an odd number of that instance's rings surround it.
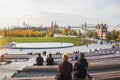
M 83 45 L 83 46 L 74 46 L 74 47 L 69 47 L 69 48 L 57 48 L 57 49 L 1 49 L 0 50 L 0 54 L 1 53 L 8 53 L 8 54 L 27 54 L 28 52 L 43 52 L 46 51 L 47 53 L 52 53 L 55 54 L 56 52 L 61 52 L 61 53 L 71 53 L 73 51 L 80 51 L 80 52 L 89 52 L 89 50 L 91 49 L 91 51 L 94 51 L 95 49 L 99 50 L 101 49 L 106 49 L 106 48 L 111 48 L 112 45 L 111 44 L 90 44 L 88 46 Z

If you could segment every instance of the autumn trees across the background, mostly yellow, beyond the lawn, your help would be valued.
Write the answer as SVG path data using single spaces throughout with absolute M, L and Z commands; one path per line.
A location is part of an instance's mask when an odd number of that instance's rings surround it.
M 15 37 L 54 37 L 54 33 L 60 33 L 62 35 L 75 35 L 77 37 L 82 37 L 83 34 L 80 30 L 73 30 L 63 28 L 62 30 L 53 30 L 48 28 L 45 32 L 35 31 L 32 29 L 23 30 L 23 29 L 9 29 L 9 30 L 0 30 L 0 36 L 15 36 Z M 89 38 L 99 39 L 97 32 L 88 31 L 86 34 Z M 111 31 L 107 32 L 106 40 L 120 40 L 120 32 L 119 31 Z

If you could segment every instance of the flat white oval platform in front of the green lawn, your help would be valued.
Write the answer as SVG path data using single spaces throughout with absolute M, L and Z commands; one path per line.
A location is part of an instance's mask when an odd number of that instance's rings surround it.
M 72 43 L 62 42 L 43 42 L 43 43 L 17 43 L 12 48 L 18 49 L 53 49 L 53 48 L 67 48 L 72 47 Z

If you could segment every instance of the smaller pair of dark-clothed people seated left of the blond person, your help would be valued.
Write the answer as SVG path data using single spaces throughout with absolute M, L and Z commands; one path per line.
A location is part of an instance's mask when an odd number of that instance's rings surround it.
M 46 59 L 47 65 L 54 65 L 54 58 L 52 57 L 52 54 L 50 53 Z M 36 65 L 43 65 L 43 57 L 41 57 L 41 54 L 38 54 L 38 57 L 36 58 Z

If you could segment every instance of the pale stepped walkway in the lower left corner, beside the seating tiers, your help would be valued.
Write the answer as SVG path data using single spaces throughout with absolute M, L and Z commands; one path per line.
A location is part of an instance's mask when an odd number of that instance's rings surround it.
M 35 58 L 27 62 L 12 62 L 11 64 L 0 65 L 0 80 L 5 77 L 10 78 L 17 70 L 22 70 L 25 66 L 32 66 L 35 63 Z

